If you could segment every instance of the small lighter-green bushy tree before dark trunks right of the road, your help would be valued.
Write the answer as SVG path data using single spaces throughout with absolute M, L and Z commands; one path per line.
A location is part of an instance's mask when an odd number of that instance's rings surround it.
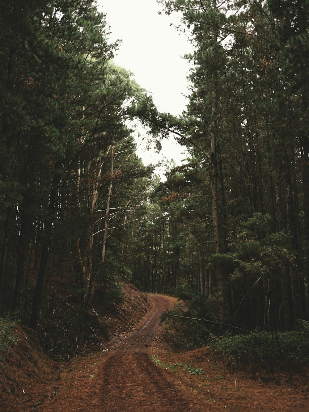
M 252 313 L 265 310 L 262 300 L 265 300 L 267 289 L 271 290 L 271 299 L 275 300 L 282 274 L 295 265 L 290 236 L 284 231 L 274 232 L 273 226 L 269 214 L 254 213 L 229 232 L 227 252 L 212 254 L 208 259 L 208 267 L 223 269 L 226 282 L 234 288 L 231 299 L 236 295 L 240 297 L 230 315 L 236 321 L 234 324 L 240 327 L 265 328 L 264 319 L 253 323 L 248 318 L 248 310 Z M 272 313 L 271 319 L 275 316 L 278 315 Z

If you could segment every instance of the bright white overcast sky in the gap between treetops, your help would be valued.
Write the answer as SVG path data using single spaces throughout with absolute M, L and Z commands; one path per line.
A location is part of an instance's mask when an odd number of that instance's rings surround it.
M 180 115 L 187 100 L 188 65 L 182 59 L 190 52 L 190 42 L 175 26 L 177 16 L 159 15 L 156 0 L 97 0 L 111 28 L 110 41 L 122 39 L 115 63 L 130 70 L 141 87 L 150 91 L 159 111 Z M 172 25 L 171 25 L 172 23 Z M 162 143 L 161 154 L 139 151 L 145 164 L 156 163 L 164 155 L 179 164 L 183 149 L 170 138 Z

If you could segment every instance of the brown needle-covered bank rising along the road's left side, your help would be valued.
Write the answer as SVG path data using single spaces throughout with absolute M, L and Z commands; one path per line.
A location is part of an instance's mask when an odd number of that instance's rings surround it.
M 126 331 L 135 328 L 149 309 L 147 297 L 129 283 L 124 283 L 124 301 L 101 319 L 110 331 L 110 341 L 101 338 L 98 346 L 86 353 L 101 351 L 116 344 Z M 42 350 L 32 329 L 17 324 L 11 334 L 15 342 L 0 356 L 0 411 L 37 410 L 47 399 L 58 395 L 67 362 L 52 361 Z M 73 358 L 72 365 L 88 363 L 88 357 Z M 74 366 L 73 366 L 74 367 Z

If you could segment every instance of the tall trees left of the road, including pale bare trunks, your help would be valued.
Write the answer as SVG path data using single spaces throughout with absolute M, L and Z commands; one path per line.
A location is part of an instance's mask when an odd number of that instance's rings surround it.
M 74 274 L 84 307 L 119 279 L 151 172 L 125 121 L 150 98 L 91 0 L 2 1 L 0 36 L 1 305 L 35 329 L 53 273 Z

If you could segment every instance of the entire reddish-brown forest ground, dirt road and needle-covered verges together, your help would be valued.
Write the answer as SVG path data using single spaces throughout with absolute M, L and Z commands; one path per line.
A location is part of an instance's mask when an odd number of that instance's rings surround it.
M 159 317 L 176 298 L 147 296 L 150 307 L 131 332 L 66 363 L 52 362 L 31 331 L 21 329 L 14 360 L 0 371 L 0 411 L 309 410 L 308 373 L 277 384 L 231 372 L 209 347 L 166 349 Z

